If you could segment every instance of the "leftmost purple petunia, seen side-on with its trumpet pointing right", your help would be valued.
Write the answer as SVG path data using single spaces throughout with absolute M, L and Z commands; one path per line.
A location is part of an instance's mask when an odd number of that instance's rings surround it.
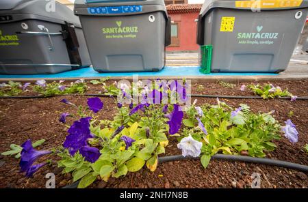
M 21 147 L 23 147 L 23 150 L 21 150 L 21 162 L 19 162 L 21 172 L 26 172 L 41 156 L 51 154 L 50 151 L 37 151 L 34 149 L 31 140 L 25 141 Z

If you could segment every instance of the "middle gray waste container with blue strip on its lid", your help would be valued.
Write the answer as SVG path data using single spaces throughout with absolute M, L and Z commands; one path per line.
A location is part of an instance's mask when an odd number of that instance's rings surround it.
M 97 72 L 164 68 L 170 18 L 163 0 L 77 0 L 74 11 Z

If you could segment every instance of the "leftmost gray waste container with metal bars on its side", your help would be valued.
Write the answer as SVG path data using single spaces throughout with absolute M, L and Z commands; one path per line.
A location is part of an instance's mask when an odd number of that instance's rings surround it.
M 55 1 L 0 1 L 0 74 L 54 74 L 90 66 L 81 25 Z

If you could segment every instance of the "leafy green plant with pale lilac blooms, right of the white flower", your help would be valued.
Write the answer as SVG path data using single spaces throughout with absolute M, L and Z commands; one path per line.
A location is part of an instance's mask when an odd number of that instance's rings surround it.
M 200 143 L 201 163 L 207 167 L 216 153 L 264 157 L 272 151 L 274 139 L 280 139 L 281 126 L 270 113 L 253 113 L 245 104 L 233 109 L 218 100 L 217 105 L 203 105 L 202 112 L 192 106 L 183 120 L 183 136 Z M 183 138 L 179 137 L 179 141 Z M 196 150 L 198 151 L 198 150 Z

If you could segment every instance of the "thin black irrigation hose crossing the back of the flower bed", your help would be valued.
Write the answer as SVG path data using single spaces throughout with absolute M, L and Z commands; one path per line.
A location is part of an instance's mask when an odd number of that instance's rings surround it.
M 104 95 L 104 94 L 96 94 L 96 93 L 86 93 L 86 94 L 67 94 L 67 95 L 55 95 L 55 96 L 0 96 L 0 99 L 34 99 L 34 98 L 53 98 L 60 96 L 95 96 L 102 98 L 115 98 L 116 96 L 112 95 Z M 217 95 L 198 95 L 192 94 L 190 95 L 193 98 L 225 98 L 225 99 L 263 99 L 260 96 L 217 96 Z M 290 100 L 291 97 L 282 97 L 282 98 L 273 98 L 279 100 Z M 308 100 L 307 96 L 298 97 L 296 100 Z

